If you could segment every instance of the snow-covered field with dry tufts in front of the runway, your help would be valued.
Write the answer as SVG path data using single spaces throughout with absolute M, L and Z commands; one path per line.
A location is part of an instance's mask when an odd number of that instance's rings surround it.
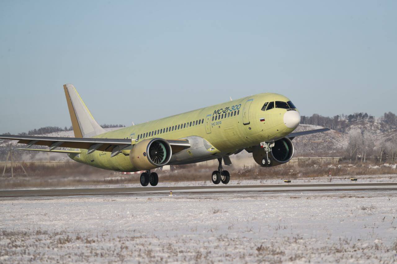
M 0 262 L 397 261 L 397 193 L 0 200 Z

